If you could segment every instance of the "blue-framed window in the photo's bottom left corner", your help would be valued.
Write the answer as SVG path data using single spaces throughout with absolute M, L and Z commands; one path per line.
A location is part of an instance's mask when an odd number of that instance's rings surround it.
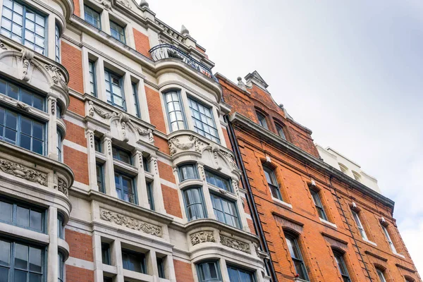
M 44 281 L 44 248 L 0 240 L 0 250 L 1 281 Z

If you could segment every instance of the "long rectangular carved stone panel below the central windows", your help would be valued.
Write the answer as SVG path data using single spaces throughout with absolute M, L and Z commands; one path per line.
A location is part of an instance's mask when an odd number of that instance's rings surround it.
M 162 236 L 162 230 L 160 226 L 155 226 L 150 223 L 133 219 L 129 216 L 123 216 L 122 214 L 116 214 L 116 212 L 110 212 L 106 211 L 105 209 L 102 209 L 100 211 L 100 218 L 105 221 L 116 223 L 117 225 L 126 226 L 136 231 L 142 231 L 144 233 L 157 237 Z

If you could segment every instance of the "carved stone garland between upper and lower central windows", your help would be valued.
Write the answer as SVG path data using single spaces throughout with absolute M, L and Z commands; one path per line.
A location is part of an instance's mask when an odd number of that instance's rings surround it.
M 102 109 L 99 109 L 99 107 L 94 106 L 94 103 L 92 101 L 88 102 L 88 104 L 90 105 L 90 108 L 88 109 L 88 114 L 90 114 L 91 117 L 94 117 L 94 114 L 97 114 L 102 118 L 109 120 L 110 124 L 112 121 L 118 121 L 118 124 L 120 125 L 121 134 L 123 136 L 123 141 L 128 142 L 129 138 L 127 136 L 127 130 L 128 128 L 130 128 L 140 136 L 148 135 L 149 143 L 154 145 L 153 130 L 151 130 L 150 128 L 142 129 L 134 125 L 133 122 L 130 121 L 130 117 L 128 116 L 128 114 L 122 112 L 117 113 L 116 111 L 108 113 L 106 111 L 103 111 Z

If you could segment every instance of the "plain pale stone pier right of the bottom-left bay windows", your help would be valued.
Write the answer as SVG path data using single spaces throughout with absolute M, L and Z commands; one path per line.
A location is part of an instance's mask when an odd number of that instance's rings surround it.
M 57 208 L 56 207 L 49 207 L 48 211 L 48 219 L 47 219 L 47 226 L 48 226 L 48 234 L 49 234 L 49 248 L 47 252 L 47 280 L 48 281 L 57 281 L 59 277 L 59 268 L 57 265 L 57 257 L 59 255 L 59 251 L 57 249 Z

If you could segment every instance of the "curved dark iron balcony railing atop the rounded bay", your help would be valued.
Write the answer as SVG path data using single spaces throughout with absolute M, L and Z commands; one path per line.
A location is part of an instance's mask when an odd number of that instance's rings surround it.
M 213 75 L 212 70 L 210 70 L 210 68 L 207 68 L 207 66 L 204 66 L 202 63 L 193 59 L 190 55 L 185 54 L 183 51 L 174 47 L 171 44 L 159 44 L 157 46 L 154 46 L 152 49 L 149 50 L 149 53 L 152 55 L 153 61 L 160 61 L 168 58 L 179 59 L 191 68 L 194 68 L 203 75 L 206 75 L 207 78 L 211 78 L 212 80 L 219 82 L 217 78 Z

